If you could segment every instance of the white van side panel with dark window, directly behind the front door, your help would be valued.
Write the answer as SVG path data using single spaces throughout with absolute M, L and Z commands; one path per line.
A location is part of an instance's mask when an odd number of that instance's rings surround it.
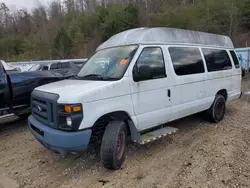
M 198 47 L 168 48 L 174 74 L 171 120 L 179 119 L 207 108 L 205 101 L 205 63 Z

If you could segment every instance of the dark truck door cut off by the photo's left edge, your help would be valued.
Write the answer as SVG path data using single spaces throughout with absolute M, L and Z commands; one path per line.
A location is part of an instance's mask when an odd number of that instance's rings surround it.
M 0 62 L 0 111 L 8 107 L 9 97 L 10 96 L 7 75 Z

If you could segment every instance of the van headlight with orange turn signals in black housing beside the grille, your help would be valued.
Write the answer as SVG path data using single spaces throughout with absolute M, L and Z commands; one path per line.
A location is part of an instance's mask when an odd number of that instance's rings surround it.
M 77 131 L 83 119 L 81 104 L 59 104 L 58 128 L 65 131 Z

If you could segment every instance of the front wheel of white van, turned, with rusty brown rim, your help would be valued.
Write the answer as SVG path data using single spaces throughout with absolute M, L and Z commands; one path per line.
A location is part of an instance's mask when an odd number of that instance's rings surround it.
M 117 170 L 125 161 L 127 126 L 122 121 L 112 121 L 106 127 L 101 144 L 101 162 L 107 169 Z

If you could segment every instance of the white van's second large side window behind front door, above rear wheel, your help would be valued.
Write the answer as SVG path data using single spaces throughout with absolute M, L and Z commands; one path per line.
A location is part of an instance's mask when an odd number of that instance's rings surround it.
M 232 63 L 226 50 L 203 48 L 208 72 L 232 69 Z

